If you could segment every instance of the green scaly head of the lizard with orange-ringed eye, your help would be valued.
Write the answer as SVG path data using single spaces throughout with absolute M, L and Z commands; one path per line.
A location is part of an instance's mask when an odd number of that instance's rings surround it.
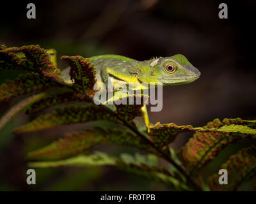
M 194 82 L 200 77 L 200 71 L 196 69 L 184 55 L 172 57 L 160 57 L 152 59 L 142 65 L 142 75 L 138 80 L 146 83 L 161 82 L 163 85 L 180 85 Z

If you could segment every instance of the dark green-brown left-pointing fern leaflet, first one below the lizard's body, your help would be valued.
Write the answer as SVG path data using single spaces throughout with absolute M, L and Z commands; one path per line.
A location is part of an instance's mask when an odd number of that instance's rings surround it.
M 115 115 L 111 115 L 106 110 L 102 110 L 99 106 L 91 103 L 88 105 L 68 105 L 63 108 L 56 108 L 53 112 L 40 115 L 28 124 L 15 129 L 13 133 L 27 133 L 95 120 L 109 120 L 122 124 L 120 120 L 116 119 Z

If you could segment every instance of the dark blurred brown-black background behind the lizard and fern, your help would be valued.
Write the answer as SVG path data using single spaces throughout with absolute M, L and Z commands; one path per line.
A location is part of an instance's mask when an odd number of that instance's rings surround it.
M 36 4 L 36 19 L 26 18 L 28 3 Z M 220 3 L 227 3 L 228 19 L 218 17 Z M 255 1 L 2 1 L 0 43 L 55 48 L 61 69 L 67 67 L 61 55 L 120 54 L 142 61 L 184 54 L 201 77 L 164 87 L 163 110 L 149 113 L 150 121 L 203 126 L 215 118 L 256 119 L 255 13 Z M 12 73 L 2 72 L 0 80 L 10 77 Z M 1 103 L 1 115 L 13 103 Z M 58 130 L 12 135 L 14 127 L 28 120 L 20 113 L 1 132 L 0 190 L 166 190 L 113 168 L 36 170 L 36 185 L 28 186 L 24 154 L 61 136 Z M 172 147 L 179 149 L 190 136 L 181 134 Z M 239 147 L 221 153 L 204 174 L 216 173 Z

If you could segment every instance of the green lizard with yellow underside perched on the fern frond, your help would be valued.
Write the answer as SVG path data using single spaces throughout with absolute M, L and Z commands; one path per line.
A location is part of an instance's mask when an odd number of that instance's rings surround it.
M 136 61 L 121 55 L 99 55 L 90 57 L 96 69 L 97 82 L 112 83 L 114 89 L 119 89 L 120 82 L 128 84 L 137 82 L 134 90 L 145 89 L 143 83 L 155 85 L 181 85 L 189 84 L 200 77 L 200 71 L 196 69 L 184 55 L 172 57 L 159 57 L 147 61 Z M 69 76 L 70 68 L 61 72 L 61 76 L 68 83 L 72 83 Z M 106 86 L 108 87 L 108 85 Z M 147 128 L 149 120 L 147 108 L 142 108 L 143 117 Z

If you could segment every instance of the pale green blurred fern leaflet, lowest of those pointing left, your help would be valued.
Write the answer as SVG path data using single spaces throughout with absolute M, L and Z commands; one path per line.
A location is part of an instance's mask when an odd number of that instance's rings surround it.
M 125 154 L 118 158 L 109 156 L 103 152 L 95 152 L 91 155 L 79 155 L 59 161 L 31 162 L 28 163 L 28 165 L 31 168 L 110 165 L 116 166 L 116 168 L 120 168 L 121 170 L 136 173 L 150 179 L 155 179 L 167 184 L 168 186 L 174 186 L 178 190 L 191 190 L 186 186 L 186 184 L 184 184 L 184 182 L 170 175 L 167 170 L 157 167 L 157 157 L 152 154 L 143 156 L 137 153 L 135 157 Z

